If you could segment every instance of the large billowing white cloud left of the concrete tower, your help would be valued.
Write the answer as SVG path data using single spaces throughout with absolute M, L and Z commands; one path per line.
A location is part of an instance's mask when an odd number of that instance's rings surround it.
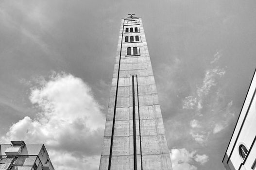
M 105 118 L 90 87 L 70 74 L 56 74 L 34 87 L 30 100 L 41 112 L 13 124 L 1 142 L 44 143 L 55 169 L 98 168 Z

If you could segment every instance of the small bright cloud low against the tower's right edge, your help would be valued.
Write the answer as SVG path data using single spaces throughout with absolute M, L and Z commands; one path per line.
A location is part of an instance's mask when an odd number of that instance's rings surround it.
M 171 149 L 171 163 L 173 170 L 197 170 L 193 164 L 194 161 L 205 164 L 209 159 L 203 154 L 196 154 L 196 151 L 188 152 L 185 148 Z

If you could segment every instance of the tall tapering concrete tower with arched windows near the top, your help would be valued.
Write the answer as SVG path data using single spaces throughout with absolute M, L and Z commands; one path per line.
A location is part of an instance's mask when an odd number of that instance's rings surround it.
M 172 170 L 140 17 L 121 19 L 100 170 Z

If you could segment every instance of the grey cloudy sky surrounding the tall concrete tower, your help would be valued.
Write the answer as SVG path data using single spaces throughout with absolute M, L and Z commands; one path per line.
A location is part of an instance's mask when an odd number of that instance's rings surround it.
M 97 170 L 120 19 L 142 17 L 174 170 L 224 170 L 256 68 L 255 0 L 1 0 L 0 143 Z

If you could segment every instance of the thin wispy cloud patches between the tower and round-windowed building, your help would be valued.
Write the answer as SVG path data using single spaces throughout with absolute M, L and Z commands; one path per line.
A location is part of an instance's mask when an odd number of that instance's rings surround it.
M 218 51 L 214 55 L 214 59 L 211 64 L 216 63 L 220 58 L 222 57 L 221 51 Z M 220 87 L 218 86 L 219 79 L 225 75 L 225 69 L 219 68 L 218 66 L 214 68 L 206 69 L 205 71 L 205 77 L 203 79 L 202 85 L 196 87 L 194 91 L 196 93 L 192 96 L 188 96 L 184 98 L 183 100 L 183 109 L 191 110 L 194 117 L 201 117 L 201 119 L 204 119 L 203 116 L 208 115 L 208 111 L 211 110 L 211 112 L 214 111 L 213 108 L 216 108 L 216 106 L 220 105 L 220 101 L 218 100 L 220 96 Z M 212 96 L 217 96 L 216 98 Z M 227 108 L 230 108 L 232 106 L 232 102 L 230 102 L 227 105 Z M 219 108 L 219 107 L 218 107 Z M 219 108 L 218 111 L 215 112 L 222 112 L 223 108 Z M 228 112 L 230 113 L 230 111 Z M 191 113 L 190 113 L 191 114 Z M 224 116 L 226 114 L 223 114 Z M 219 117 L 218 117 L 219 118 Z M 215 124 L 215 119 L 213 116 L 211 116 L 211 121 L 208 123 L 202 122 L 199 123 L 198 120 L 192 119 L 190 121 L 190 126 L 193 128 L 191 132 L 189 133 L 192 138 L 200 143 L 205 144 L 205 142 L 208 139 L 209 134 L 213 131 L 213 133 L 220 132 L 224 127 L 221 126 L 221 124 L 218 124 L 214 127 L 214 130 L 208 128 L 208 124 Z M 207 121 L 207 120 L 206 120 Z M 197 128 L 197 129 L 195 129 Z

